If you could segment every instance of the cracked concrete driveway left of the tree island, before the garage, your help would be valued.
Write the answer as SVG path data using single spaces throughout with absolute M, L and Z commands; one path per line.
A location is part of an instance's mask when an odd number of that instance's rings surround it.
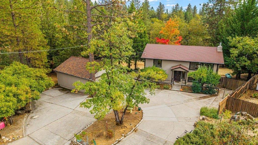
M 74 133 L 96 120 L 90 109 L 79 107 L 80 102 L 88 99 L 83 93 L 53 88 L 40 96 L 39 100 L 32 102 L 33 111 L 25 120 L 25 137 L 10 145 L 70 144 Z

